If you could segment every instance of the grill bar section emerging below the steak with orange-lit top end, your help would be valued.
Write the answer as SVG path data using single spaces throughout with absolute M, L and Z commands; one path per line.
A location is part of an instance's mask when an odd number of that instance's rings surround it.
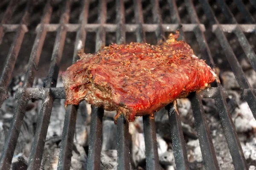
M 171 126 L 170 130 L 175 164 L 177 170 L 189 170 L 188 156 L 186 153 L 186 144 L 181 127 L 180 114 L 177 108 L 177 101 L 166 106 Z

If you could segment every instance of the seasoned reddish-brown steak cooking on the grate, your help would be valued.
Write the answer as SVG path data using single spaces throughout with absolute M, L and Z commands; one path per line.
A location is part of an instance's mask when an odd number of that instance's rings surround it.
M 128 121 L 158 111 L 177 98 L 207 87 L 216 75 L 190 46 L 170 34 L 161 45 L 112 44 L 82 54 L 61 76 L 65 105 L 86 100 Z

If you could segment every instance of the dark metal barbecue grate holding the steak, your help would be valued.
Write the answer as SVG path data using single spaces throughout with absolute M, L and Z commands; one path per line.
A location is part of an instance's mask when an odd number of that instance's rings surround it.
M 158 0 L 151 0 L 153 23 L 150 24 L 144 23 L 141 0 L 133 1 L 135 24 L 125 23 L 124 0 L 116 0 L 115 24 L 107 23 L 107 0 L 100 0 L 98 3 L 98 23 L 88 23 L 90 2 L 89 0 L 81 1 L 82 10 L 81 14 L 79 15 L 79 21 L 76 24 L 69 23 L 70 6 L 72 3 L 71 0 L 66 0 L 62 3 L 64 10 L 58 24 L 50 23 L 53 10 L 51 0 L 48 0 L 45 4 L 44 14 L 41 17 L 41 22 L 36 27 L 36 37 L 29 58 L 26 76 L 23 81 L 23 87 L 20 88 L 16 94 L 16 98 L 18 99 L 17 106 L 15 113 L 13 114 L 9 133 L 0 157 L 0 170 L 7 170 L 10 168 L 15 146 L 20 133 L 20 128 L 26 113 L 26 106 L 28 105 L 29 100 L 43 101 L 31 153 L 29 156 L 28 169 L 39 169 L 41 166 L 53 101 L 55 99 L 65 98 L 64 89 L 56 88 L 56 83 L 67 32 L 76 32 L 76 41 L 73 53 L 74 63 L 77 59 L 79 59 L 77 54 L 84 51 L 87 32 L 96 33 L 95 51 L 99 51 L 99 49 L 105 45 L 106 33 L 109 32 L 116 34 L 116 43 L 118 44 L 125 43 L 126 32 L 135 33 L 137 42 L 146 42 L 145 33 L 154 32 L 157 40 L 160 41 L 164 39 L 166 32 L 174 32 L 182 25 L 180 28 L 180 38 L 186 41 L 184 32 L 192 32 L 198 42 L 202 58 L 206 60 L 207 64 L 210 65 L 211 68 L 215 69 L 212 54 L 204 34 L 206 31 L 206 26 L 200 22 L 195 4 L 192 0 L 184 0 L 186 10 L 190 17 L 190 23 L 186 24 L 182 23 L 180 19 L 175 0 L 168 0 L 167 3 L 172 23 L 163 23 Z M 239 24 L 227 4 L 222 0 L 217 0 L 218 6 L 220 6 L 224 17 L 228 21 L 228 23 L 221 24 L 217 20 L 209 2 L 207 0 L 199 1 L 201 3 L 201 8 L 204 10 L 204 14 L 206 15 L 206 19 L 210 24 L 210 30 L 208 31 L 212 31 L 212 33 L 214 33 L 217 37 L 218 42 L 220 43 L 236 77 L 236 80 L 239 83 L 242 92 L 241 96 L 248 103 L 253 116 L 256 118 L 255 89 L 251 88 L 238 59 L 234 54 L 229 41 L 227 40 L 227 35 L 225 34 L 234 33 L 236 35 L 242 49 L 244 50 L 244 53 L 250 61 L 250 64 L 256 71 L 256 55 L 244 34 L 255 32 L 255 20 L 250 14 L 250 11 L 247 10 L 245 3 L 242 0 L 234 0 L 234 3 L 244 17 L 244 20 L 246 20 L 247 24 Z M 255 1 L 250 0 L 249 3 L 256 8 Z M 28 22 L 33 8 L 33 1 L 29 0 L 26 3 L 27 5 L 24 9 L 25 11 L 21 22 L 19 24 L 8 24 L 9 20 L 12 18 L 15 8 L 17 7 L 17 4 L 18 0 L 11 0 L 8 3 L 3 19 L 0 23 L 0 43 L 2 42 L 3 35 L 6 32 L 15 32 L 15 37 L 9 49 L 8 56 L 6 57 L 6 63 L 0 77 L 0 107 L 3 104 L 3 101 L 8 97 L 7 87 L 12 76 L 17 55 L 20 51 L 21 43 L 23 42 L 24 34 L 29 31 Z M 32 88 L 47 32 L 56 32 L 49 73 L 47 75 L 44 88 Z M 189 96 L 192 103 L 193 116 L 195 119 L 195 126 L 198 133 L 205 168 L 213 170 L 219 169 L 219 166 L 212 144 L 209 127 L 207 125 L 207 120 L 204 115 L 202 98 L 212 98 L 215 100 L 235 169 L 248 169 L 230 111 L 227 107 L 227 92 L 224 88 L 222 88 L 219 79 L 216 79 L 216 81 L 212 83 L 211 88 L 199 93 L 193 93 Z M 58 158 L 58 170 L 70 169 L 77 110 L 78 107 L 74 105 L 68 105 L 66 109 L 61 149 Z M 169 122 L 171 125 L 170 133 L 172 137 L 176 167 L 179 170 L 189 169 L 179 111 L 177 110 L 177 102 L 167 105 L 166 110 L 168 111 Z M 104 110 L 102 108 L 92 106 L 87 169 L 100 169 L 103 116 Z M 148 170 L 160 169 L 154 116 L 143 116 L 143 128 L 145 136 L 146 168 Z M 117 120 L 117 169 L 119 170 L 130 169 L 128 129 L 128 122 L 125 121 L 123 116 L 119 116 Z

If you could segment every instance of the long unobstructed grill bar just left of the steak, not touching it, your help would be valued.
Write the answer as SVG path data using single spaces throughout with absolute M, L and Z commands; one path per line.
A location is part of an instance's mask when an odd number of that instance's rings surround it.
M 64 13 L 61 15 L 60 27 L 63 27 L 62 23 L 68 22 L 68 16 L 70 13 L 70 2 L 67 1 Z M 67 17 L 67 18 L 66 18 Z M 46 18 L 49 22 L 49 18 Z M 56 80 L 58 77 L 58 65 L 62 57 L 62 51 L 64 47 L 65 32 L 62 29 L 58 29 L 57 36 L 55 39 L 54 50 L 52 53 L 51 64 L 49 68 L 49 73 L 47 77 L 46 87 L 56 87 Z M 41 160 L 44 152 L 44 144 L 47 135 L 47 129 L 49 126 L 50 116 L 52 112 L 53 98 L 50 91 L 46 91 L 43 99 L 43 104 L 41 106 L 37 128 L 35 131 L 35 137 L 32 144 L 32 150 L 29 156 L 29 170 L 39 169 L 41 165 Z

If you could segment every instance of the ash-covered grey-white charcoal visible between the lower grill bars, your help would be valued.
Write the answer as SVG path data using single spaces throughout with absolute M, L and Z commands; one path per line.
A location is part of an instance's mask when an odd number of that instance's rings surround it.
M 248 72 L 248 71 L 247 71 Z M 248 72 L 247 74 L 249 74 Z M 234 77 L 233 77 L 234 79 Z M 253 80 L 253 79 L 252 79 Z M 42 87 L 43 81 L 42 79 L 35 79 L 35 87 Z M 20 84 L 20 83 L 19 83 Z M 57 82 L 58 87 L 63 87 L 62 82 L 58 79 Z M 14 91 L 17 87 L 15 86 Z M 236 87 L 235 87 L 236 88 Z M 239 139 L 241 139 L 241 145 L 243 147 L 244 154 L 249 155 L 246 156 L 247 160 L 256 161 L 254 153 L 252 150 L 256 150 L 256 144 L 253 142 L 248 142 L 247 135 L 248 131 L 253 131 L 254 123 L 250 123 L 250 121 L 254 120 L 250 109 L 247 104 L 241 102 L 240 95 L 237 91 L 229 90 L 230 101 L 228 101 L 229 108 L 236 108 L 238 104 L 239 108 L 234 110 L 232 113 L 232 117 L 234 119 L 235 127 L 238 128 L 239 131 Z M 235 102 L 233 102 L 233 100 Z M 0 110 L 0 146 L 3 147 L 3 141 L 5 136 L 8 133 L 8 128 L 10 124 L 10 120 L 12 119 L 12 114 L 14 113 L 15 106 L 9 105 L 9 103 L 17 103 L 17 100 L 14 97 L 9 97 L 9 99 L 4 102 L 3 109 Z M 186 149 L 188 153 L 189 166 L 191 169 L 203 169 L 203 161 L 201 157 L 200 145 L 198 143 L 198 139 L 196 136 L 194 118 L 191 109 L 191 103 L 189 99 L 178 99 L 178 109 L 180 113 L 180 119 L 182 120 L 182 128 L 185 136 L 185 141 L 188 142 L 186 144 Z M 215 101 L 213 99 L 204 99 L 203 101 L 205 113 L 207 116 L 207 122 L 210 128 L 212 142 L 215 147 L 215 153 L 217 155 L 218 163 L 221 169 L 233 169 L 232 158 L 230 156 L 230 152 L 227 146 L 227 141 L 224 136 L 224 132 L 222 130 L 221 122 L 218 117 L 218 111 L 216 109 Z M 17 147 L 15 149 L 15 155 L 23 154 L 26 158 L 29 156 L 31 143 L 33 136 L 35 134 L 35 124 L 38 119 L 38 114 L 41 108 L 41 101 L 36 101 L 34 103 L 29 103 L 29 110 L 26 111 L 26 115 L 24 117 L 24 122 L 26 128 L 22 126 L 21 134 L 19 137 Z M 91 108 L 90 105 L 86 102 L 81 102 L 79 105 L 79 110 L 77 113 L 76 120 L 76 133 L 74 137 L 75 145 L 78 145 L 79 148 L 88 146 L 88 136 L 90 133 L 90 114 Z M 103 129 L 102 129 L 102 169 L 116 168 L 116 125 L 113 123 L 113 117 L 116 112 L 108 112 L 105 111 L 103 117 Z M 57 142 L 52 142 L 54 147 L 49 147 L 45 151 L 43 161 L 44 164 L 47 164 L 46 167 L 52 168 L 57 166 L 58 154 L 59 154 L 59 142 L 61 140 L 62 135 L 62 127 L 64 123 L 64 99 L 56 99 L 53 104 L 50 124 L 47 133 L 47 142 L 46 146 L 49 145 L 50 139 L 54 136 L 58 136 L 55 140 Z M 161 166 L 164 169 L 175 169 L 174 157 L 172 152 L 172 144 L 171 144 L 171 136 L 170 136 L 170 125 L 167 111 L 163 108 L 158 113 L 154 114 L 156 130 L 157 130 L 157 141 L 158 141 L 158 152 L 159 152 L 159 160 Z M 242 120 L 241 120 L 242 119 Z M 244 122 L 249 121 L 249 122 Z M 242 123 L 243 122 L 243 123 Z M 30 125 L 32 124 L 32 125 Z M 33 125 L 34 124 L 34 125 Z M 246 124 L 246 125 L 245 125 Z M 248 126 L 247 126 L 248 125 Z M 28 128 L 29 127 L 29 128 Z M 244 128 L 244 129 L 241 129 Z M 240 128 L 240 130 L 239 130 Z M 144 134 L 143 134 L 143 118 L 137 117 L 134 122 L 129 123 L 129 133 L 131 135 L 130 142 L 130 151 L 131 151 L 131 167 L 132 168 L 140 168 L 141 162 L 145 162 L 145 142 L 144 142 Z M 195 133 L 195 134 L 194 134 Z M 192 136 L 189 136 L 192 134 Z M 252 133 L 250 133 L 252 135 Z M 109 138 L 111 136 L 111 138 Z M 193 138 L 195 137 L 195 138 Z M 254 140 L 255 137 L 251 136 Z M 22 140 L 21 140 L 22 139 Z M 195 140 L 196 139 L 196 140 Z M 59 141 L 58 141 L 59 140 Z M 253 141 L 253 140 L 252 140 Z M 52 145 L 52 146 L 53 146 Z M 76 150 L 76 149 L 75 149 Z M 73 158 L 75 159 L 75 164 L 86 167 L 86 154 L 85 158 L 81 159 L 81 155 L 75 156 L 76 151 L 73 150 Z M 77 149 L 78 150 L 78 149 Z M 48 154 L 48 155 L 47 155 Z M 83 153 L 84 154 L 84 153 Z M 168 156 L 166 156 L 168 155 Z M 55 161 L 48 161 L 49 156 L 53 156 Z M 48 163 L 47 163 L 48 161 Z M 73 160 L 74 162 L 74 160 Z M 21 161 L 23 163 L 23 161 Z M 26 161 L 25 161 L 26 164 Z M 73 163 L 74 164 L 74 163 Z M 49 166 L 48 166 L 49 165 Z M 76 165 L 72 165 L 73 168 Z M 143 167 L 144 168 L 144 167 Z

